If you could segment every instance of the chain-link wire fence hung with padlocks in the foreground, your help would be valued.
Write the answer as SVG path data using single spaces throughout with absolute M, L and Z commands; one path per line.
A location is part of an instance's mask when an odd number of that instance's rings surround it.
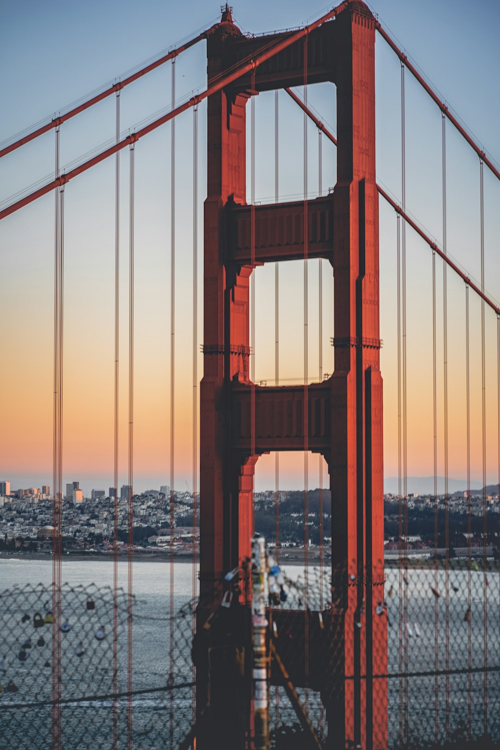
M 240 571 L 235 577 L 238 590 L 244 591 L 245 574 Z M 348 746 L 364 745 L 366 727 L 372 722 L 375 748 L 500 744 L 496 562 L 485 568 L 482 562 L 467 565 L 454 560 L 448 566 L 441 562 L 386 564 L 382 583 L 362 587 L 361 577 L 364 584 L 369 579 L 345 570 L 320 574 L 318 568 L 311 568 L 304 574 L 290 566 L 280 575 L 279 585 L 276 578 L 270 579 L 268 640 L 295 688 L 303 715 L 290 700 L 277 658 L 271 658 L 272 747 L 307 747 L 310 733 L 304 730 L 304 715 L 325 747 L 334 725 L 348 727 L 343 737 Z M 204 649 L 215 643 L 234 645 L 238 638 L 250 654 L 250 608 L 241 595 L 238 602 L 238 584 L 232 586 L 230 606 L 217 607 L 213 614 L 188 596 L 178 597 L 172 620 L 166 608 L 151 607 L 138 593 L 133 601 L 129 703 L 127 593 L 120 590 L 116 597 L 115 697 L 112 589 L 65 584 L 61 590 L 64 750 L 112 748 L 114 718 L 118 747 L 126 745 L 129 709 L 133 747 L 178 748 L 196 718 L 193 659 L 202 671 Z M 51 603 L 52 589 L 41 585 L 1 593 L 2 747 L 45 750 L 51 746 Z M 198 618 L 194 647 L 193 614 Z M 172 674 L 166 646 L 171 622 L 175 634 Z M 231 636 L 234 622 L 238 623 L 236 638 Z M 242 628 L 241 622 L 249 626 Z M 242 668 L 250 684 L 248 663 L 248 658 L 243 659 Z M 373 715 L 370 709 L 367 715 L 359 707 L 370 695 Z M 209 711 L 199 705 L 201 709 Z M 250 748 L 250 709 L 244 721 Z

